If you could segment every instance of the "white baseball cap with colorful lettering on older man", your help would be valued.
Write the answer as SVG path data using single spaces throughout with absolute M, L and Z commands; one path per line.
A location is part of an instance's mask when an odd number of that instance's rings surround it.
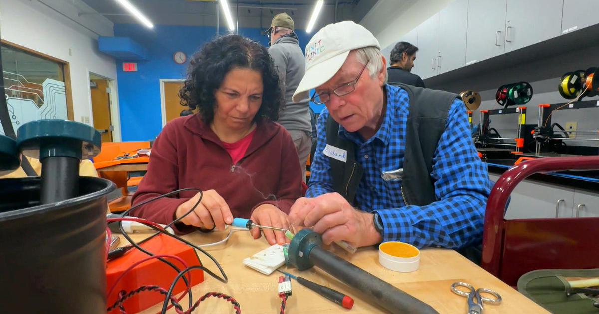
M 305 75 L 291 99 L 300 102 L 311 89 L 325 84 L 339 71 L 349 52 L 364 47 L 377 47 L 374 35 L 352 21 L 329 24 L 320 29 L 305 47 Z

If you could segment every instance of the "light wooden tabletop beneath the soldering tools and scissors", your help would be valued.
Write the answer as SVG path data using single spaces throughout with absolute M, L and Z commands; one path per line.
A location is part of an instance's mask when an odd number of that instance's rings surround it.
M 196 232 L 184 237 L 193 243 L 201 244 L 216 242 L 225 235 L 226 233 L 223 231 L 208 234 Z M 141 240 L 146 236 L 147 234 L 134 234 L 134 239 Z M 236 231 L 231 235 L 228 242 L 205 248 L 222 265 L 229 282 L 225 284 L 204 274 L 204 282 L 192 288 L 193 298 L 197 300 L 205 292 L 218 291 L 232 295 L 240 303 L 242 313 L 279 313 L 281 299 L 277 296 L 277 278 L 280 273 L 274 272 L 267 276 L 241 263 L 244 258 L 267 247 L 268 243 L 264 238 L 253 240 L 248 231 Z M 440 313 L 467 312 L 466 298 L 450 291 L 450 285 L 455 281 L 469 282 L 476 288 L 491 288 L 501 294 L 503 298 L 501 304 L 485 304 L 485 314 L 549 313 L 506 285 L 506 283 L 501 282 L 450 249 L 429 248 L 421 250 L 420 268 L 412 273 L 398 273 L 381 266 L 378 261 L 378 251 L 375 248 L 359 249 L 353 256 L 340 248 L 333 248 L 333 251 L 357 266 L 430 304 Z M 217 272 L 216 266 L 207 257 L 200 254 L 200 258 L 204 266 L 213 270 L 213 272 Z M 345 292 L 355 300 L 353 309 L 347 310 L 292 280 L 292 295 L 287 300 L 286 314 L 387 313 L 356 289 L 350 288 L 317 267 L 303 272 L 293 268 L 287 269 L 285 266 L 282 268 L 294 275 Z M 181 300 L 180 303 L 184 309 L 187 309 L 187 297 Z M 161 306 L 162 304 L 157 304 L 141 313 L 154 314 L 160 311 Z M 176 312 L 171 309 L 168 313 Z M 210 297 L 202 301 L 192 313 L 234 313 L 234 310 L 232 304 L 228 301 Z

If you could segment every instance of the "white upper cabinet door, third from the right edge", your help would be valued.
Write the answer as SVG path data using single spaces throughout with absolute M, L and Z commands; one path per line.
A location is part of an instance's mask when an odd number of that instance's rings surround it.
M 468 1 L 466 65 L 503 54 L 506 1 Z M 456 19 L 459 18 L 459 16 L 456 17 Z

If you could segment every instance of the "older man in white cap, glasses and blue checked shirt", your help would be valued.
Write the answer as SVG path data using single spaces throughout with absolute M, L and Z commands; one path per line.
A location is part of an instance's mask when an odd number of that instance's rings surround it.
M 331 24 L 305 48 L 293 99 L 324 103 L 307 197 L 289 221 L 329 244 L 397 240 L 418 247 L 480 243 L 488 173 L 455 94 L 386 84 L 379 42 L 353 22 Z

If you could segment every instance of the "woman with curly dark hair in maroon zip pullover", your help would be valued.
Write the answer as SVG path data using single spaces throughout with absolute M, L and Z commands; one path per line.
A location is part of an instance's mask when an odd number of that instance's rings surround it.
M 301 167 L 291 136 L 274 122 L 284 100 L 267 50 L 237 35 L 208 42 L 192 57 L 179 96 L 198 113 L 164 127 L 132 204 L 193 187 L 203 197 L 175 224 L 178 232 L 223 230 L 234 217 L 287 227 L 287 213 L 301 197 Z M 168 223 L 198 199 L 199 193 L 184 192 L 132 214 Z M 279 231 L 264 234 L 271 244 L 285 242 Z M 252 235 L 258 238 L 260 230 Z

